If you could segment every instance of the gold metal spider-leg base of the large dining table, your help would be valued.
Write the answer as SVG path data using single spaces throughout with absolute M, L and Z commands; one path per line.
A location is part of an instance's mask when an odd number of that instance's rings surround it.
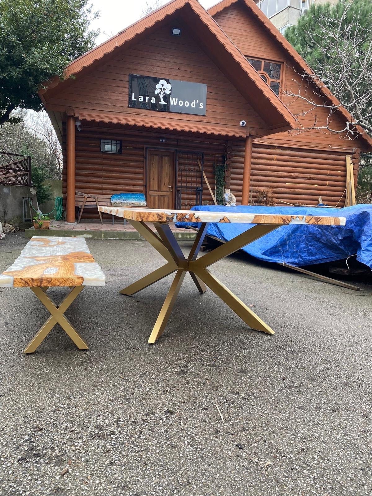
M 150 334 L 149 343 L 155 341 L 163 334 L 168 318 L 173 309 L 177 295 L 185 278 L 186 272 L 190 274 L 200 293 L 206 291 L 208 286 L 221 300 L 223 300 L 234 312 L 239 315 L 252 329 L 274 334 L 274 331 L 250 310 L 237 296 L 222 284 L 207 267 L 225 256 L 231 255 L 235 251 L 261 238 L 265 234 L 280 227 L 279 225 L 260 224 L 255 225 L 248 231 L 242 233 L 227 243 L 213 249 L 209 253 L 196 259 L 207 232 L 208 224 L 203 223 L 197 233 L 194 244 L 186 258 L 175 239 L 171 228 L 165 223 L 156 223 L 154 226 L 158 234 L 153 232 L 142 221 L 128 220 L 130 224 L 143 236 L 166 260 L 168 263 L 154 270 L 145 277 L 130 286 L 124 288 L 120 293 L 123 295 L 134 295 L 148 286 L 151 286 L 160 279 L 176 272 L 171 284 L 171 288 L 160 310 L 159 316 Z

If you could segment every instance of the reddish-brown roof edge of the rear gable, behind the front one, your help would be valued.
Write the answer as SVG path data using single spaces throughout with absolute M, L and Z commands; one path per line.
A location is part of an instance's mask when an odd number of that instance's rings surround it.
M 218 12 L 221 12 L 227 7 L 230 7 L 233 3 L 236 3 L 240 0 L 221 0 L 208 9 L 208 13 L 211 16 L 216 15 Z M 257 20 L 263 25 L 263 27 L 282 45 L 284 50 L 289 54 L 294 62 L 296 62 L 300 68 L 308 73 L 309 75 L 314 75 L 314 72 L 311 70 L 310 66 L 305 62 L 305 60 L 301 57 L 301 55 L 296 52 L 293 46 L 289 43 L 289 41 L 280 33 L 280 31 L 274 26 L 274 24 L 266 17 L 266 15 L 262 12 L 262 10 L 258 7 L 258 5 L 253 0 L 241 0 L 243 1 L 248 9 L 252 12 L 252 14 L 257 18 Z M 328 98 L 328 100 L 334 106 L 338 106 L 337 111 L 341 113 L 344 119 L 352 122 L 351 114 L 343 107 L 339 100 L 333 95 L 333 93 L 324 85 L 321 84 L 317 79 L 313 80 L 314 83 L 319 87 L 321 93 Z M 367 132 L 360 126 L 356 126 L 358 132 L 361 136 L 367 141 L 368 146 L 372 146 L 372 138 L 367 134 Z

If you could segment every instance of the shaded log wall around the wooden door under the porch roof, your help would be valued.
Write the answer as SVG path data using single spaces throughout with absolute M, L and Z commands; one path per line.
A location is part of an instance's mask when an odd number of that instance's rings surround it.
M 160 137 L 165 142 L 160 142 Z M 63 127 L 65 145 L 65 126 Z M 122 153 L 100 151 L 101 139 L 122 141 Z M 128 131 L 122 127 L 81 124 L 76 132 L 76 190 L 101 198 L 119 192 L 146 192 L 146 150 L 163 148 L 204 154 L 204 172 L 212 190 L 215 188 L 214 163 L 216 154 L 226 153 L 227 141 L 210 137 L 180 137 L 147 131 Z M 66 195 L 65 146 L 63 146 L 62 190 Z M 182 166 L 183 164 L 180 163 Z M 203 201 L 213 202 L 203 181 Z M 184 201 L 186 196 L 184 195 Z M 185 205 L 184 205 L 185 206 Z M 98 218 L 95 209 L 84 211 L 83 218 Z

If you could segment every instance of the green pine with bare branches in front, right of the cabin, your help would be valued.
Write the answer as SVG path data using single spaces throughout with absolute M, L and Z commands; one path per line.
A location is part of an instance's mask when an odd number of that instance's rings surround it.
M 326 108 L 328 122 L 314 123 L 315 128 L 327 128 L 334 132 L 346 132 L 350 138 L 357 136 L 355 125 L 368 133 L 372 132 L 372 2 L 371 0 L 339 0 L 330 5 L 313 3 L 298 24 L 289 27 L 285 37 L 308 62 L 313 74 L 310 75 L 317 88 L 315 92 L 322 102 L 311 98 L 312 92 L 286 94 L 296 96 L 316 107 Z M 304 81 L 309 80 L 307 74 Z M 305 85 L 306 86 L 306 85 Z M 345 128 L 332 128 L 332 114 L 339 105 L 332 104 L 324 97 L 326 86 L 337 97 L 340 104 L 352 116 Z

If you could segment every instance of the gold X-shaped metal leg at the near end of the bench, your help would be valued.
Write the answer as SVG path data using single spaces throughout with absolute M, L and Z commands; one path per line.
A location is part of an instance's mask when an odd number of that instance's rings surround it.
M 53 327 L 59 323 L 62 329 L 68 334 L 79 350 L 87 350 L 88 345 L 80 336 L 80 334 L 73 328 L 71 322 L 63 315 L 71 303 L 75 300 L 77 295 L 83 290 L 84 286 L 73 286 L 67 295 L 63 298 L 59 306 L 55 304 L 52 298 L 47 295 L 47 288 L 32 287 L 32 291 L 39 298 L 44 307 L 49 310 L 51 316 L 40 327 L 39 331 L 31 339 L 26 346 L 24 353 L 34 353 L 37 347 L 44 341 Z

